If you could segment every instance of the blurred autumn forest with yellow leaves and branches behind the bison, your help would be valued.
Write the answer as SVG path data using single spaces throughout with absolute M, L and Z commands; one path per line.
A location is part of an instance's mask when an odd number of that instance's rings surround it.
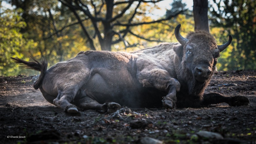
M 170 9 L 163 16 L 159 2 Z M 195 1 L 195 0 L 194 0 Z M 5 5 L 11 5 L 8 8 Z M 256 1 L 210 0 L 210 33 L 221 52 L 218 70 L 256 69 Z M 10 57 L 46 58 L 48 68 L 80 51 L 132 52 L 161 42 L 177 42 L 175 27 L 184 37 L 194 30 L 193 11 L 181 0 L 0 0 L 0 75 L 36 75 L 17 67 Z

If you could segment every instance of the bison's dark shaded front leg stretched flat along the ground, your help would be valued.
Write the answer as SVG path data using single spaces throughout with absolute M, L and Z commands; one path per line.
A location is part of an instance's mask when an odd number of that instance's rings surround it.
M 202 105 L 208 106 L 210 104 L 228 103 L 230 106 L 248 105 L 249 99 L 245 96 L 223 96 L 220 93 L 212 92 L 205 93 Z

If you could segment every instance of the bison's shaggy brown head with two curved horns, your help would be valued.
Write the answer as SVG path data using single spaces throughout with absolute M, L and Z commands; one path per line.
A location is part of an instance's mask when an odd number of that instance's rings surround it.
M 232 41 L 231 35 L 227 43 L 217 46 L 214 37 L 206 31 L 190 32 L 186 38 L 180 35 L 180 24 L 175 28 L 175 37 L 182 46 L 174 48 L 180 57 L 182 67 L 193 74 L 197 82 L 210 80 L 219 53 Z

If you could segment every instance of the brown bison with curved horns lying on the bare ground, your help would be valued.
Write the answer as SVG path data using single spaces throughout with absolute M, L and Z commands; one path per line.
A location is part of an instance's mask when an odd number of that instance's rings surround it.
M 45 60 L 12 59 L 40 71 L 34 88 L 67 113 L 77 113 L 77 107 L 112 110 L 121 106 L 204 107 L 223 102 L 247 105 L 249 100 L 244 96 L 204 93 L 219 53 L 232 41 L 231 35 L 227 43 L 217 46 L 214 37 L 205 31 L 182 37 L 180 26 L 175 28 L 179 43 L 161 43 L 132 53 L 79 52 L 48 70 Z

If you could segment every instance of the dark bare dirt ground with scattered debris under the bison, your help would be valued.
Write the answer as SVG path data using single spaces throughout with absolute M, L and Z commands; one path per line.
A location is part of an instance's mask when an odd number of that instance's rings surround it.
M 144 137 L 164 143 L 256 143 L 256 71 L 219 72 L 206 90 L 246 96 L 247 106 L 126 109 L 120 115 L 94 110 L 67 115 L 33 89 L 31 78 L 0 77 L 0 143 L 144 143 Z M 200 136 L 201 130 L 223 139 Z

